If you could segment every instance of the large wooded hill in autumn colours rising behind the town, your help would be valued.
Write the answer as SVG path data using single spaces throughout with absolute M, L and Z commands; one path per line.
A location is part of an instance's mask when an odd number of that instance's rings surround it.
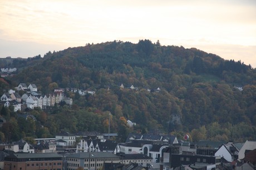
M 18 74 L 7 78 L 10 87 L 33 83 L 43 94 L 54 87 L 96 91 L 86 96 L 67 93 L 73 98 L 72 108 L 32 111 L 37 137 L 54 136 L 61 129 L 106 133 L 111 114 L 111 131 L 119 133 L 120 141 L 129 132 L 155 129 L 178 137 L 190 134 L 194 141 L 256 138 L 256 71 L 240 61 L 140 40 L 49 51 L 43 58 L 14 59 L 12 66 Z M 138 89 L 129 89 L 131 85 Z M 6 117 L 1 128 L 6 138 L 32 136 L 31 128 L 19 127 L 16 114 Z M 136 126 L 126 126 L 126 120 Z M 16 137 L 8 133 L 14 125 Z

